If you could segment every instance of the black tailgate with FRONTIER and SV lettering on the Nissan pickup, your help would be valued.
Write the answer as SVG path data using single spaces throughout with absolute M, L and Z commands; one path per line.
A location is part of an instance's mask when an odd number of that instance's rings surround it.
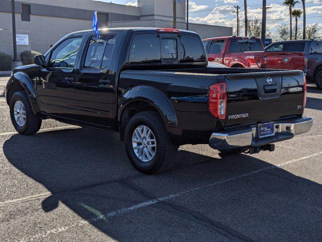
M 303 113 L 302 71 L 225 74 L 225 126 L 248 125 Z

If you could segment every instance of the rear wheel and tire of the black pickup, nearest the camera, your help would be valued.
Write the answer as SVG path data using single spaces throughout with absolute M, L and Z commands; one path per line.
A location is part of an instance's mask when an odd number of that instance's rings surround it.
M 169 169 L 178 149 L 170 140 L 162 118 L 154 111 L 133 115 L 125 128 L 124 140 L 130 162 L 145 174 Z

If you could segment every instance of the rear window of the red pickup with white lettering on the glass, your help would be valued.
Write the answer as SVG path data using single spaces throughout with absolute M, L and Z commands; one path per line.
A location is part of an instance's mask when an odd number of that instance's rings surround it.
M 229 53 L 239 53 L 246 51 L 263 51 L 263 45 L 260 39 L 231 39 Z

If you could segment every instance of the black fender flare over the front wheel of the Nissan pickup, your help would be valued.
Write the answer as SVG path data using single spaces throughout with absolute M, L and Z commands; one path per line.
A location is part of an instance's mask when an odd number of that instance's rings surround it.
M 8 105 L 10 105 L 11 96 L 16 90 L 24 90 L 27 93 L 33 112 L 35 114 L 40 112 L 34 85 L 26 73 L 16 72 L 10 77 L 6 87 L 6 101 Z

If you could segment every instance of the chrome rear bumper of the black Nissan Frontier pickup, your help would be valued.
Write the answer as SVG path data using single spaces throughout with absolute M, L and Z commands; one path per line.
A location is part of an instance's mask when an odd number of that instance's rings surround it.
M 263 139 L 257 138 L 257 127 L 245 130 L 213 133 L 209 139 L 209 146 L 214 149 L 234 149 L 240 147 L 258 147 L 293 138 L 295 135 L 309 132 L 313 125 L 313 118 L 300 117 L 274 122 L 274 136 Z

